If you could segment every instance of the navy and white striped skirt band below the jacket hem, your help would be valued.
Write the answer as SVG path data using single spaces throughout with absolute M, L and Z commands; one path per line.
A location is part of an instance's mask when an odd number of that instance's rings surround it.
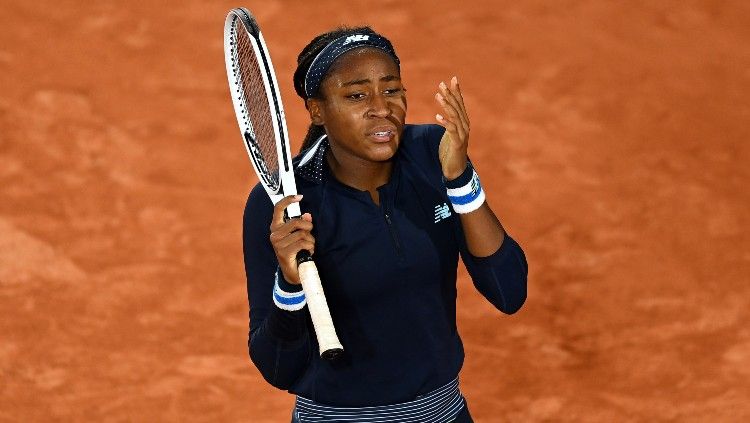
M 332 407 L 297 396 L 295 413 L 301 423 L 445 423 L 465 407 L 458 378 L 413 401 L 372 407 Z

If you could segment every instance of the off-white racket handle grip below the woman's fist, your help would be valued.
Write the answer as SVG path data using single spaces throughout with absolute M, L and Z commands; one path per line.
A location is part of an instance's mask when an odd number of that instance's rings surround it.
M 320 355 L 323 356 L 326 352 L 333 350 L 343 351 L 344 347 L 336 335 L 336 328 L 333 327 L 333 319 L 331 319 L 331 312 L 328 309 L 328 302 L 323 293 L 323 285 L 320 283 L 315 262 L 310 260 L 300 263 L 298 271 L 307 299 L 307 308 L 315 327 L 315 335 L 318 337 Z

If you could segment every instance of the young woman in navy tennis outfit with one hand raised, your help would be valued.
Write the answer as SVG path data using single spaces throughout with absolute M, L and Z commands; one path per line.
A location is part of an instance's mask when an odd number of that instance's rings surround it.
M 527 265 L 468 160 L 458 80 L 440 83 L 437 125 L 408 125 L 391 43 L 368 27 L 322 34 L 294 75 L 311 127 L 295 160 L 301 195 L 250 194 L 244 254 L 250 356 L 297 395 L 295 422 L 470 422 L 458 389 L 461 256 L 499 310 L 526 298 Z M 301 202 L 301 219 L 284 209 Z M 295 256 L 313 253 L 344 346 L 318 356 Z

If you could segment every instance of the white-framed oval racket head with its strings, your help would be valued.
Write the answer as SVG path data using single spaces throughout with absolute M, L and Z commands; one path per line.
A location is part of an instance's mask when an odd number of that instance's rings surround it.
M 276 203 L 297 191 L 289 135 L 271 56 L 257 21 L 245 8 L 227 14 L 224 60 L 245 149 L 258 179 Z

